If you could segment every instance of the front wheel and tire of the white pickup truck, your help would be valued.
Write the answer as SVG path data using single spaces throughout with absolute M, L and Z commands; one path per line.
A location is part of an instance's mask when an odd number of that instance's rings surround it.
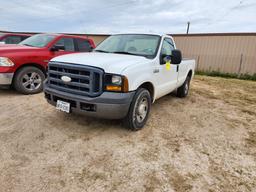
M 132 100 L 129 112 L 124 118 L 124 124 L 132 131 L 138 131 L 147 122 L 151 109 L 151 96 L 147 89 L 139 88 Z

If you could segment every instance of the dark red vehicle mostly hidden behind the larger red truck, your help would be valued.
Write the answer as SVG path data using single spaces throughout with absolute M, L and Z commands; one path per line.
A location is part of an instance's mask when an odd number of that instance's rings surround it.
M 0 44 L 18 44 L 30 36 L 21 33 L 0 33 Z

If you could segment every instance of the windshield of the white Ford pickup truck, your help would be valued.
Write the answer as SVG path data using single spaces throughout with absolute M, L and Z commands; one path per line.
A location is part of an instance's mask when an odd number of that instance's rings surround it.
M 154 58 L 160 39 L 158 35 L 112 35 L 100 43 L 94 51 Z

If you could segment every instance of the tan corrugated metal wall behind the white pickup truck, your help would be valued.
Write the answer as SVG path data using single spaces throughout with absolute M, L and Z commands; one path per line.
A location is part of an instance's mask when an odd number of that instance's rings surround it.
M 108 35 L 89 35 L 96 44 Z M 256 73 L 256 34 L 173 35 L 183 57 L 194 58 L 197 70 Z

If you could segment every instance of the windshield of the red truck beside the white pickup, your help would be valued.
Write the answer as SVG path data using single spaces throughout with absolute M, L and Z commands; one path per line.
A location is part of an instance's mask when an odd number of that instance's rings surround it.
M 45 35 L 45 34 L 39 34 L 39 35 L 33 35 L 32 37 L 29 37 L 25 39 L 24 41 L 20 42 L 20 45 L 27 45 L 31 47 L 45 47 L 55 38 L 54 35 Z

